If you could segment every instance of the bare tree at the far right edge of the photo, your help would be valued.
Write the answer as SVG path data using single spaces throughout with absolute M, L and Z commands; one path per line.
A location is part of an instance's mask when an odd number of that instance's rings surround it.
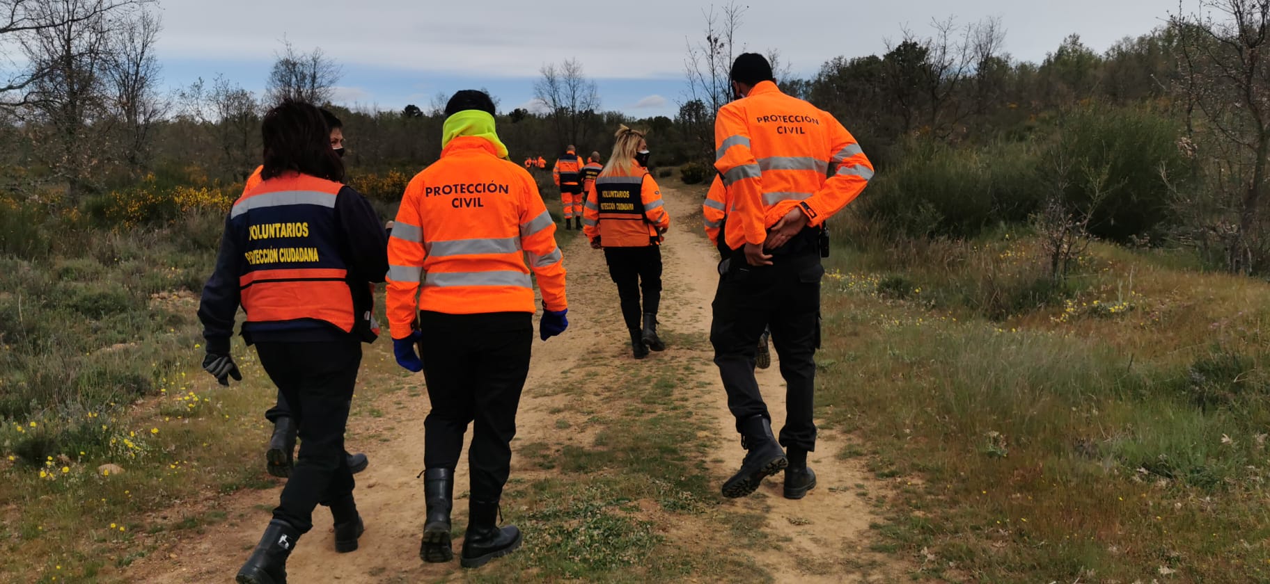
M 1214 14 L 1224 18 L 1215 19 Z M 1170 16 L 1182 52 L 1182 87 L 1204 118 L 1199 124 L 1226 160 L 1209 157 L 1218 179 L 1233 186 L 1217 196 L 1240 200 L 1228 237 L 1228 269 L 1250 272 L 1265 261 L 1262 193 L 1270 156 L 1270 0 L 1200 0 L 1195 13 Z M 1187 120 L 1187 127 L 1193 128 Z M 1224 176 L 1223 176 L 1224 175 Z M 1233 182 L 1233 184 L 1232 184 Z M 1255 250 L 1256 248 L 1256 250 Z

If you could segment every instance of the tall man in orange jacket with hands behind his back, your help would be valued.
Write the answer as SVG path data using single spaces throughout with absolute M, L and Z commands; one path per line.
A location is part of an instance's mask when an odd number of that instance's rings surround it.
M 776 87 L 763 56 L 737 57 L 730 77 L 737 100 L 719 109 L 715 168 L 735 208 L 724 225 L 728 256 L 719 263 L 710 342 L 747 454 L 723 494 L 745 497 L 787 466 L 785 497 L 800 499 L 815 488 L 806 454 L 815 450 L 820 257 L 828 253 L 822 225 L 860 195 L 874 171 L 837 119 Z M 754 378 L 767 326 L 786 383 L 780 443 Z

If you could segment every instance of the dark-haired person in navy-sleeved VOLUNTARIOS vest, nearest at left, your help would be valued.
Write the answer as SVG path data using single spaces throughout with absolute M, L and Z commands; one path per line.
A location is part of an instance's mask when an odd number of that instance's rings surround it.
M 370 285 L 384 281 L 387 246 L 371 204 L 344 186 L 321 110 L 286 100 L 264 115 L 263 181 L 234 203 L 198 308 L 203 369 L 222 385 L 243 376 L 230 357 L 239 305 L 243 337 L 291 405 L 300 459 L 240 584 L 287 579 L 287 556 L 330 507 L 335 551 L 357 550 L 363 526 L 353 500 L 344 427 L 362 361 L 375 340 Z

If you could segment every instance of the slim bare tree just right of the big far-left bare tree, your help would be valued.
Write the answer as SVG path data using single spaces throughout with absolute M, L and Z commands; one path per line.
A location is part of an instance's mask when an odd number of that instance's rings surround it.
M 155 42 L 161 29 L 159 16 L 149 10 L 124 20 L 113 38 L 114 49 L 105 68 L 113 109 L 123 122 L 123 157 L 133 171 L 149 160 L 154 125 L 169 109 L 155 92 L 160 71 Z

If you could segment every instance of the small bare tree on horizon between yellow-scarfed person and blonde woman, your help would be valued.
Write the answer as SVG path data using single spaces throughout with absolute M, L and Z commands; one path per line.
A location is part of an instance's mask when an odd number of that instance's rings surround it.
M 575 58 L 560 65 L 545 65 L 542 77 L 533 82 L 533 98 L 547 106 L 547 117 L 556 130 L 556 146 L 585 143 L 589 122 L 599 109 L 599 91 L 587 79 L 582 62 Z

